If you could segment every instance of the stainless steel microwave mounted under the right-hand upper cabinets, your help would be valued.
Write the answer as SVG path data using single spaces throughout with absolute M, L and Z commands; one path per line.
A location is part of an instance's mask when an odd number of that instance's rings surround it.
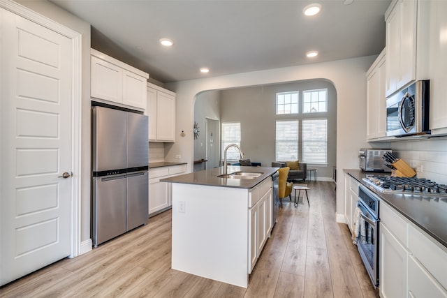
M 430 80 L 416 81 L 386 100 L 386 135 L 430 134 Z

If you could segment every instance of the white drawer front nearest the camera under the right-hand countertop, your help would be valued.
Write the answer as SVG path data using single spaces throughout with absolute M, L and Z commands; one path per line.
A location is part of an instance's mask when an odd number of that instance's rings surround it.
M 409 250 L 430 274 L 447 288 L 447 252 L 435 243 L 436 240 L 425 236 L 413 225 L 409 227 Z M 427 296 L 428 297 L 428 296 Z

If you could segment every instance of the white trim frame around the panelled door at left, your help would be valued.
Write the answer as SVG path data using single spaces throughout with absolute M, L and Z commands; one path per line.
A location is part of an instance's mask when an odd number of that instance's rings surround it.
M 29 8 L 20 5 L 12 0 L 1 0 L 0 7 L 9 10 L 11 13 L 20 15 L 27 20 L 40 24 L 47 29 L 55 31 L 71 39 L 73 49 L 73 89 L 71 94 L 71 127 L 73 156 L 71 158 L 71 168 L 73 169 L 73 188 L 71 192 L 71 254 L 69 258 L 75 258 L 81 252 L 81 55 L 82 55 L 82 36 L 79 32 L 73 31 L 49 18 L 36 13 Z

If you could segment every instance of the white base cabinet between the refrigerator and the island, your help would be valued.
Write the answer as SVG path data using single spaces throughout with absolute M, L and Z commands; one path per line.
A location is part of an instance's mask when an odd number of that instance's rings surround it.
M 149 216 L 154 216 L 172 206 L 171 184 L 160 179 L 186 172 L 186 165 L 149 168 Z

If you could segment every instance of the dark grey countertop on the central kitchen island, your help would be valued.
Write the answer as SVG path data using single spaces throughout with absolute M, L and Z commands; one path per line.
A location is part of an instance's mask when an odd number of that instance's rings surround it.
M 253 188 L 264 179 L 272 176 L 279 170 L 279 167 L 242 167 L 237 165 L 229 165 L 227 173 L 233 172 L 256 172 L 263 173 L 255 179 L 226 179 L 217 176 L 223 174 L 223 167 L 215 167 L 211 170 L 203 170 L 189 174 L 182 174 L 175 177 L 161 179 L 163 182 L 182 183 L 182 184 L 198 184 L 207 186 L 235 187 L 235 188 Z

